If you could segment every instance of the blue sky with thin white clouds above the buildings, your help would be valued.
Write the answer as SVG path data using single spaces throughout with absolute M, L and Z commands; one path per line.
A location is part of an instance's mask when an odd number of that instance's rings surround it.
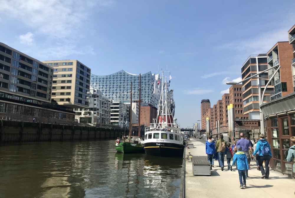
M 241 78 L 250 54 L 288 41 L 295 1 L 0 0 L 0 41 L 40 61 L 78 59 L 97 75 L 171 71 L 181 127 Z

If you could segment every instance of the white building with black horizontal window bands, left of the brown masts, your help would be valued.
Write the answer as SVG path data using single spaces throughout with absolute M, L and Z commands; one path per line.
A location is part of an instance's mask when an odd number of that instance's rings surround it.
M 111 104 L 111 124 L 126 126 L 129 123 L 130 105 L 124 104 L 122 101 L 113 101 Z

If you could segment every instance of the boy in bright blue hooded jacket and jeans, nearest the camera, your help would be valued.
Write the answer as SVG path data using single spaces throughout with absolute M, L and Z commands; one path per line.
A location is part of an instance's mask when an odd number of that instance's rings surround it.
M 239 172 L 239 179 L 240 179 L 240 188 L 243 189 L 246 186 L 246 170 L 249 169 L 248 165 L 248 159 L 246 157 L 246 154 L 242 152 L 242 147 L 240 145 L 236 146 L 237 152 L 234 155 L 234 158 L 232 159 L 232 166 L 236 163 L 237 169 Z M 232 166 L 230 167 L 230 170 L 232 171 Z

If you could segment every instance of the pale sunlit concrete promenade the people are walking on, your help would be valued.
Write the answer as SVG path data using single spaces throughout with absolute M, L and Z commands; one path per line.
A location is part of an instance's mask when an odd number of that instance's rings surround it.
M 190 144 L 194 148 L 186 149 L 192 155 L 205 156 L 205 140 L 191 139 Z M 246 180 L 247 188 L 240 189 L 239 175 L 236 167 L 233 171 L 227 170 L 225 156 L 224 171 L 221 171 L 217 160 L 214 160 L 214 167 L 211 176 L 193 176 L 192 163 L 186 160 L 186 197 L 187 198 L 295 198 L 295 180 L 289 179 L 286 175 L 270 170 L 269 179 L 261 179 L 261 172 L 256 168 L 256 162 L 251 162 L 249 179 Z

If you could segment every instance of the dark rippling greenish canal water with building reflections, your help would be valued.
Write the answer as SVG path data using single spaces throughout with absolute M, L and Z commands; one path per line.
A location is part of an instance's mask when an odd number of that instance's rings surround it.
M 0 147 L 0 198 L 176 198 L 182 159 L 116 153 L 114 140 Z

